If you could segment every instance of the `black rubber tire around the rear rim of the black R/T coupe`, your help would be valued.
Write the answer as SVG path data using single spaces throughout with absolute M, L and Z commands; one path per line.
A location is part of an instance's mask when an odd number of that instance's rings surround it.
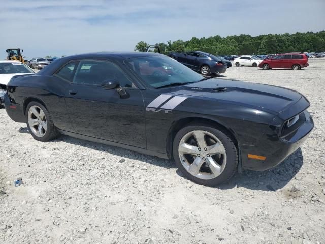
M 28 111 L 29 111 L 31 106 L 38 106 L 39 108 L 41 108 L 43 110 L 43 112 L 45 114 L 47 129 L 46 129 L 46 132 L 45 132 L 44 136 L 42 136 L 42 137 L 38 137 L 37 135 L 35 135 L 34 132 L 31 130 L 30 126 L 29 126 L 29 123 L 28 123 Z M 59 135 L 58 130 L 56 129 L 56 127 L 53 124 L 53 120 L 51 118 L 50 113 L 47 111 L 47 109 L 41 103 L 36 102 L 36 101 L 30 102 L 26 107 L 25 118 L 26 118 L 26 124 L 27 124 L 28 131 L 30 132 L 32 137 L 34 137 L 35 140 L 49 141 L 49 140 L 52 140 L 52 139 L 54 139 L 55 137 L 57 137 Z

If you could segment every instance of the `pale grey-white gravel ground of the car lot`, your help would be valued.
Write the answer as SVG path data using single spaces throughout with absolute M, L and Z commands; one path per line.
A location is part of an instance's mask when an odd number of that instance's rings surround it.
M 278 167 L 218 188 L 172 161 L 67 136 L 38 142 L 0 109 L 0 243 L 325 243 L 325 58 L 309 64 L 224 74 L 303 93 L 315 129 Z

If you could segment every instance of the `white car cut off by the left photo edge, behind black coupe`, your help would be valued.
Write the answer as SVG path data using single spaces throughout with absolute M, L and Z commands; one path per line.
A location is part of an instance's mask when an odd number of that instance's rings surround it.
M 13 76 L 26 74 L 35 74 L 35 71 L 20 61 L 0 60 L 0 107 L 4 105 L 4 97 L 10 79 Z

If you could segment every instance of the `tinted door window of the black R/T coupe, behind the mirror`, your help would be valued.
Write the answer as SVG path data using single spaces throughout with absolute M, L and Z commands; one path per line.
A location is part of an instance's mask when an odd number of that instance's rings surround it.
M 104 80 L 117 80 L 122 87 L 135 87 L 123 71 L 109 61 L 83 60 L 80 62 L 74 83 L 101 85 Z

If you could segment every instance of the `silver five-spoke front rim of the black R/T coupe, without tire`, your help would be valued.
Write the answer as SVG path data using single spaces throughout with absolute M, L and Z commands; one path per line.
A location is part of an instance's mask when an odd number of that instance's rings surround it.
M 178 155 L 187 172 L 205 180 L 218 177 L 227 163 L 226 151 L 219 138 L 203 130 L 185 134 L 179 142 Z

